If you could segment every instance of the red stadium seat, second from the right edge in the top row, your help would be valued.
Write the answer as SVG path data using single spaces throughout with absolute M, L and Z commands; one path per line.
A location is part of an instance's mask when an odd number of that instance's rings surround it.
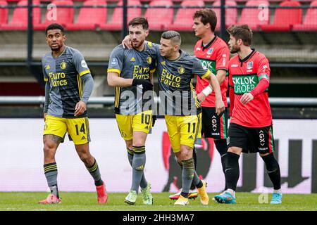
M 301 6 L 298 1 L 283 1 L 280 6 Z M 263 31 L 288 32 L 292 25 L 302 23 L 302 8 L 277 8 L 273 24 L 261 25 Z

